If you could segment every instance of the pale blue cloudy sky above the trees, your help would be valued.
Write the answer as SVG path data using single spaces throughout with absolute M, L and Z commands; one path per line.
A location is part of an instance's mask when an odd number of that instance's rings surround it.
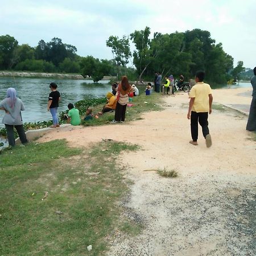
M 61 38 L 80 56 L 112 59 L 109 36 L 151 28 L 171 34 L 200 28 L 244 67 L 256 66 L 255 0 L 0 0 L 0 35 L 36 46 Z M 133 48 L 133 46 L 131 46 Z

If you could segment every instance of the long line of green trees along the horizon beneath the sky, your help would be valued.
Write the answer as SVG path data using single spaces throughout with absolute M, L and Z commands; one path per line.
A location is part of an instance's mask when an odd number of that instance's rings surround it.
M 130 43 L 135 50 L 131 52 Z M 135 30 L 129 36 L 110 36 L 106 46 L 112 49 L 112 60 L 100 60 L 93 56 L 77 55 L 77 48 L 65 44 L 60 38 L 50 42 L 40 40 L 36 47 L 18 44 L 10 35 L 0 36 L 0 69 L 37 72 L 80 73 L 99 81 L 103 76 L 126 74 L 133 80 L 152 80 L 155 72 L 165 75 L 184 75 L 187 80 L 199 69 L 206 72 L 206 80 L 223 84 L 239 79 L 243 62 L 234 59 L 216 44 L 210 32 L 200 29 L 172 34 L 155 32 L 150 28 Z M 129 63 L 133 67 L 129 67 Z M 128 67 L 127 67 L 128 65 Z

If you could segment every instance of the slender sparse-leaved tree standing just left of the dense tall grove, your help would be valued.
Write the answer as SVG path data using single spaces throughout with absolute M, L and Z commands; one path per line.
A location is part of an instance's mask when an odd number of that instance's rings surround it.
M 119 39 L 118 36 L 109 36 L 109 39 L 106 40 L 106 46 L 112 48 L 113 58 L 117 65 L 118 73 L 120 73 L 120 65 L 126 67 L 131 57 L 129 38 L 123 36 Z

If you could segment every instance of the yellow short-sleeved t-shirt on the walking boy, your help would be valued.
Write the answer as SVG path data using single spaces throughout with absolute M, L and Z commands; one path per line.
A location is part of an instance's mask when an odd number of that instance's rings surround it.
M 212 94 L 212 89 L 209 84 L 197 82 L 189 92 L 190 98 L 195 98 L 192 106 L 194 112 L 209 112 L 209 94 Z

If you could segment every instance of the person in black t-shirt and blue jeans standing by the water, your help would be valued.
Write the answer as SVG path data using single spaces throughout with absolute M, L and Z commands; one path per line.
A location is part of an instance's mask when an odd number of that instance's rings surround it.
M 57 117 L 57 109 L 59 107 L 59 101 L 60 101 L 60 93 L 57 91 L 57 85 L 55 82 L 51 82 L 49 85 L 49 88 L 51 89 L 51 93 L 48 97 L 48 105 L 47 105 L 47 111 L 50 111 L 52 114 L 52 128 L 59 127 L 59 120 Z

